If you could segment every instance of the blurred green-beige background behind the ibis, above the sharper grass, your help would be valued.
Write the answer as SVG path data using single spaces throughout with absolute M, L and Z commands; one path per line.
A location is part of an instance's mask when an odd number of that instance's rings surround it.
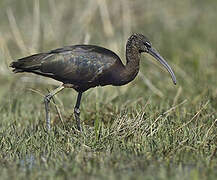
M 58 84 L 13 74 L 12 60 L 67 45 L 96 44 L 113 50 L 125 63 L 125 44 L 133 32 L 150 39 L 173 68 L 178 84 L 172 84 L 152 57 L 143 55 L 132 83 L 85 93 L 83 119 L 94 119 L 99 109 L 99 116 L 114 117 L 131 105 L 144 106 L 150 98 L 158 109 L 185 99 L 185 112 L 207 101 L 210 109 L 217 107 L 216 0 L 0 0 L 0 7 L 1 108 L 19 112 L 28 104 L 24 112 L 38 111 L 43 119 L 41 96 Z M 76 92 L 65 90 L 56 98 L 61 112 L 69 116 Z

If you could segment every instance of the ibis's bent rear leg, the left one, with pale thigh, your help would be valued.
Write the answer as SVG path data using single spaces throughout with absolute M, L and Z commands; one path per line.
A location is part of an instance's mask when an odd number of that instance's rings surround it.
M 46 113 L 46 126 L 47 126 L 48 131 L 50 131 L 50 105 L 49 105 L 50 100 L 55 94 L 62 91 L 63 89 L 64 89 L 64 86 L 60 85 L 58 88 L 54 89 L 53 91 L 51 91 L 49 94 L 47 94 L 44 97 L 45 113 Z

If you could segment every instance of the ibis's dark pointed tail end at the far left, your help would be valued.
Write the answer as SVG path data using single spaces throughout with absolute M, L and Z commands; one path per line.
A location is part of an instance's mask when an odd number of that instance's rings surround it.
M 42 60 L 47 56 L 45 53 L 35 54 L 32 56 L 28 56 L 25 58 L 18 59 L 17 61 L 13 61 L 10 64 L 12 67 L 12 71 L 14 73 L 19 72 L 32 72 L 34 70 L 40 69 Z

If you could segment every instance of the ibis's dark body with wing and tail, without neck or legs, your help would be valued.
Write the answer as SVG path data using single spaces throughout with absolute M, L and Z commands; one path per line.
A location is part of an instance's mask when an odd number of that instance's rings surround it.
M 94 45 L 75 45 L 19 59 L 14 72 L 32 72 L 70 84 L 78 92 L 95 86 L 121 85 L 124 68 L 112 51 Z

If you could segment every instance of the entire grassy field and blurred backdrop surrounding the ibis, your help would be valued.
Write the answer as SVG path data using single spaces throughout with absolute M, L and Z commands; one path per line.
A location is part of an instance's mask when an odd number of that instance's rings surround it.
M 0 179 L 216 179 L 217 1 L 1 0 Z M 76 130 L 77 93 L 51 105 L 59 83 L 13 74 L 13 59 L 70 44 L 97 44 L 120 55 L 132 32 L 145 34 L 174 69 L 152 57 L 123 87 L 87 91 L 84 132 Z

